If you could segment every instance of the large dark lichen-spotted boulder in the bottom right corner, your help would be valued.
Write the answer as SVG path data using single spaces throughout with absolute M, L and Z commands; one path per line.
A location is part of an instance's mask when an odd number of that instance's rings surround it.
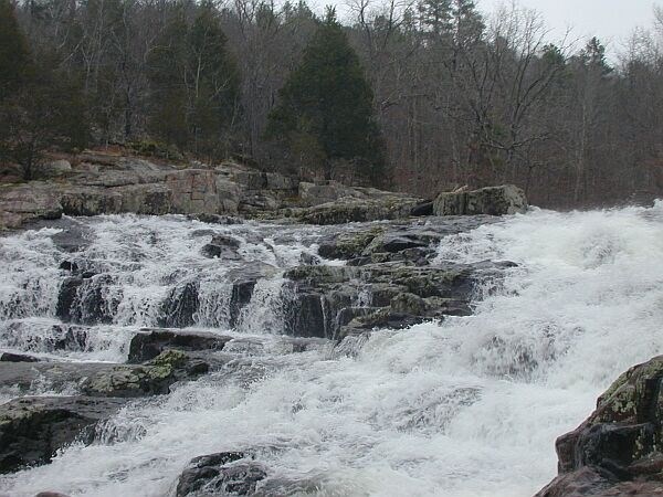
M 663 495 L 663 356 L 623 373 L 596 411 L 560 436 L 559 476 L 537 497 Z

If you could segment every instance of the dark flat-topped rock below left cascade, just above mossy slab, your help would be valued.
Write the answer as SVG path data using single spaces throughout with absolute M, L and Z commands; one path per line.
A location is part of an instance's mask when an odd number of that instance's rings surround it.
M 144 328 L 131 338 L 129 362 L 144 362 L 156 358 L 165 350 L 222 350 L 230 337 L 203 331 Z

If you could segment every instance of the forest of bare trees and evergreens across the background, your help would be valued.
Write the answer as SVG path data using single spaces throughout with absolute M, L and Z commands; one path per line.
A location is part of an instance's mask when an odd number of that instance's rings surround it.
M 663 15 L 622 53 L 470 0 L 0 0 L 0 154 L 123 145 L 431 197 L 663 193 Z M 619 62 L 612 62 L 619 61 Z

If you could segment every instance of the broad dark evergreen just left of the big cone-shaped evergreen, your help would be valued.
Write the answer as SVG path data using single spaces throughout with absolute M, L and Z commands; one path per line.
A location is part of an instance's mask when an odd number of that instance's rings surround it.
M 211 3 L 191 25 L 178 8 L 150 54 L 151 133 L 167 144 L 217 157 L 229 148 L 240 77 Z

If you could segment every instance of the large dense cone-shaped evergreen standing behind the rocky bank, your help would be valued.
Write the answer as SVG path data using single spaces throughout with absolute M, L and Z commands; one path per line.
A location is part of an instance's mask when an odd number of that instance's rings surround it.
M 327 178 L 338 159 L 356 163 L 359 176 L 379 178 L 383 157 L 372 91 L 334 9 L 327 8 L 301 64 L 281 89 L 267 135 L 283 139 L 293 155 L 317 158 Z

